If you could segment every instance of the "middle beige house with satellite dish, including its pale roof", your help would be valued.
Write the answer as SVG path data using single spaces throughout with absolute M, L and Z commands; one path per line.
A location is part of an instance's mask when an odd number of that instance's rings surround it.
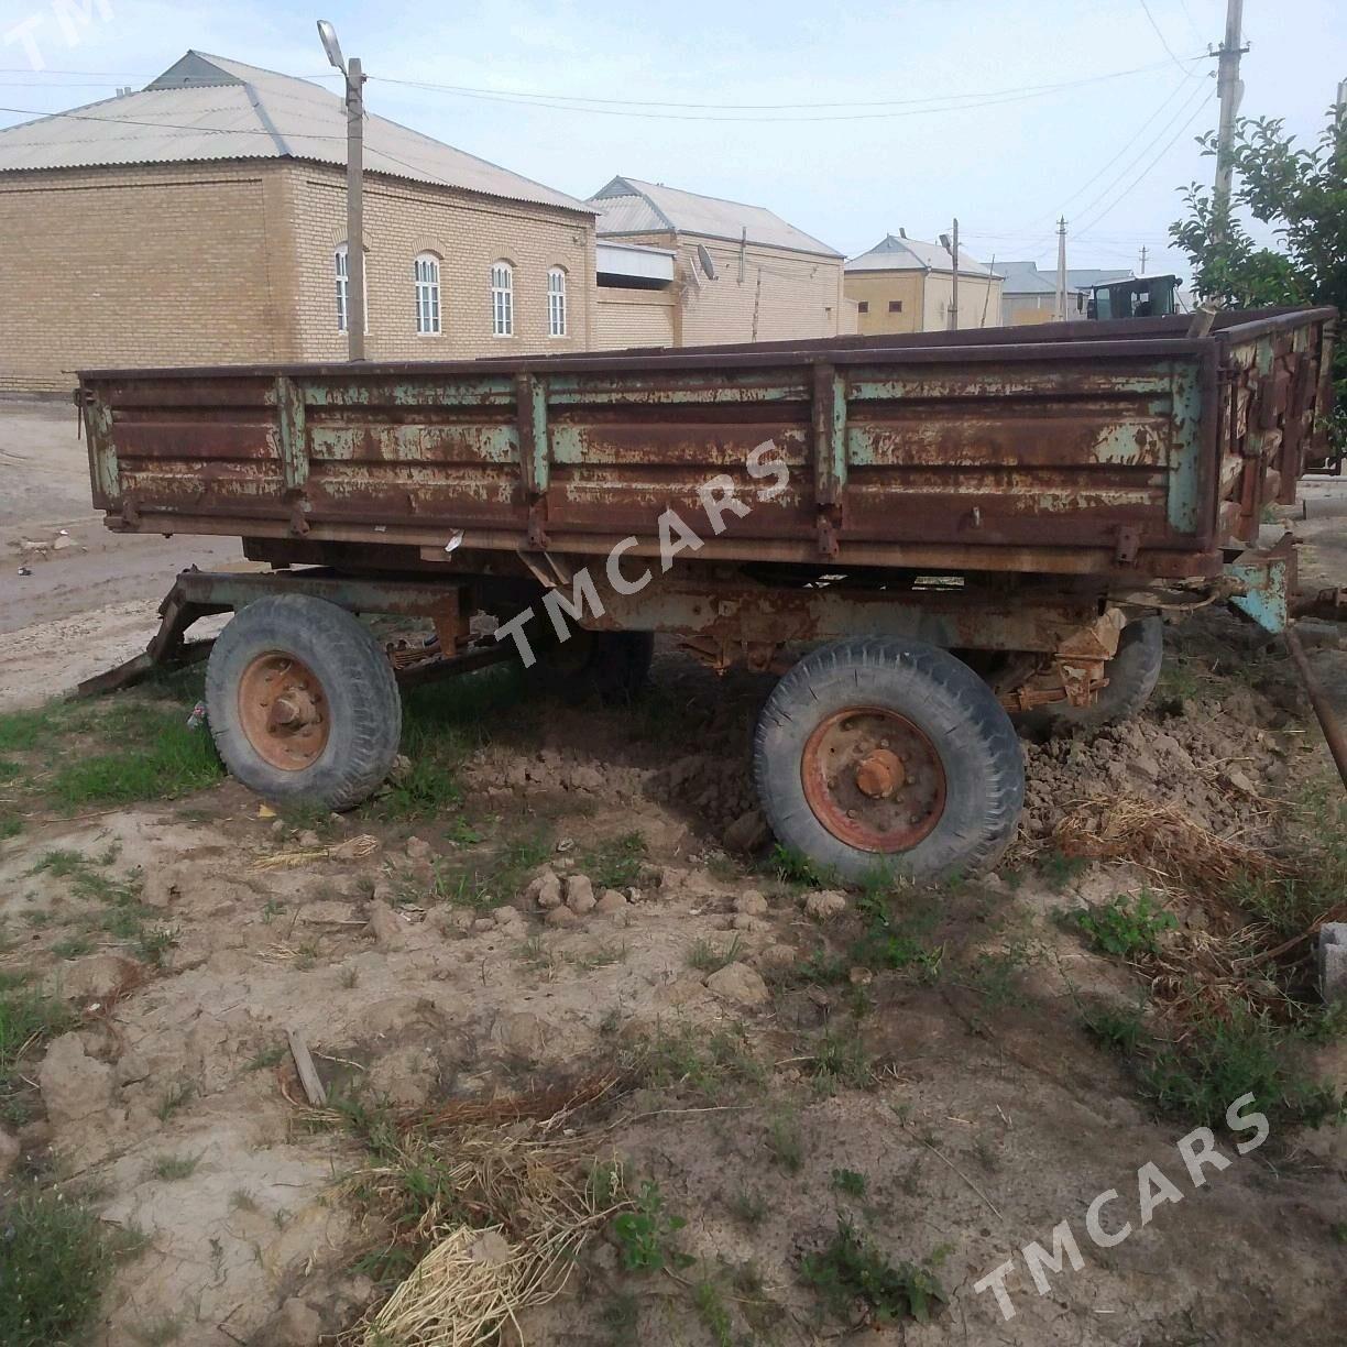
M 842 255 L 762 206 L 614 178 L 590 197 L 599 251 L 653 249 L 660 282 L 614 260 L 599 267 L 597 346 L 835 337 L 843 319 Z M 649 268 L 640 268 L 649 269 Z

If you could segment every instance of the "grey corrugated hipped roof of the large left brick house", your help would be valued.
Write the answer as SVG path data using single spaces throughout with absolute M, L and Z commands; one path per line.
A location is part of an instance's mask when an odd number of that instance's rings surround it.
M 0 172 L 217 159 L 345 166 L 345 102 L 307 79 L 189 51 L 140 93 L 0 129 Z M 384 117 L 365 120 L 365 168 L 593 214 L 574 197 Z

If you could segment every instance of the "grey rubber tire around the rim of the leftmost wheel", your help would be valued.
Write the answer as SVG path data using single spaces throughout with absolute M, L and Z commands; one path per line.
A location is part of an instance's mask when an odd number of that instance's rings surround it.
M 290 643 L 311 643 L 318 660 Z M 334 723 L 329 749 L 303 772 L 264 762 L 237 715 L 237 661 L 268 649 L 292 651 L 323 680 Z M 388 657 L 345 609 L 306 594 L 272 594 L 240 609 L 217 637 L 206 664 L 206 711 L 225 766 L 265 799 L 311 799 L 349 810 L 388 776 L 401 738 L 401 696 Z

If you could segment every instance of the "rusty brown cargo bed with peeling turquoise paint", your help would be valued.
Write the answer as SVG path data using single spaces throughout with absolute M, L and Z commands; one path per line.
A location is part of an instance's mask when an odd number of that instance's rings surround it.
M 1331 308 L 692 350 L 79 376 L 114 529 L 602 554 L 789 486 L 699 560 L 1214 575 L 1290 501 Z M 409 552 L 408 550 L 415 550 Z

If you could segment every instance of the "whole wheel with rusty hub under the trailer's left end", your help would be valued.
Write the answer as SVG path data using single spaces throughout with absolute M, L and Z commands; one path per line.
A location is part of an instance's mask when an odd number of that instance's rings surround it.
M 240 609 L 206 664 L 225 766 L 267 800 L 349 810 L 397 756 L 403 709 L 379 641 L 345 609 L 276 594 Z

